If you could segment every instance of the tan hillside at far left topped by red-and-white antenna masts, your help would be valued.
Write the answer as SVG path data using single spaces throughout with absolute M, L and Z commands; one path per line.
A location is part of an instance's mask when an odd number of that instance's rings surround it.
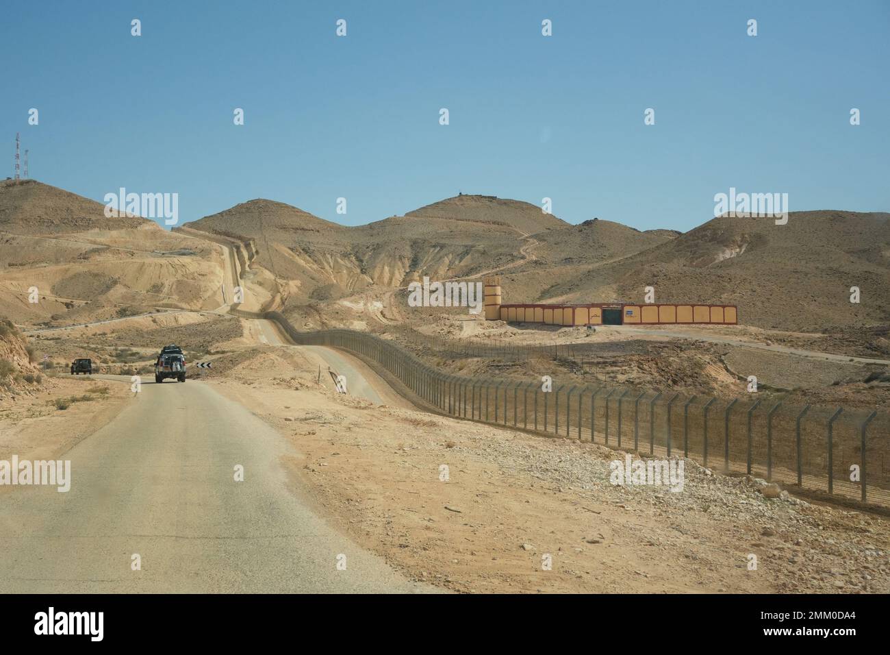
M 77 323 L 223 304 L 221 247 L 104 210 L 36 180 L 0 183 L 0 314 Z

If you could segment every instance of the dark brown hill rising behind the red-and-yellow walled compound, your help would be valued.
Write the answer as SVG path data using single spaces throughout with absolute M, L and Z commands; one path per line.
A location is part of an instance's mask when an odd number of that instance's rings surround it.
M 555 282 L 539 299 L 735 304 L 740 320 L 765 328 L 821 329 L 890 320 L 890 215 L 794 212 L 772 218 L 716 217 L 676 239 Z M 862 302 L 850 302 L 858 286 Z

